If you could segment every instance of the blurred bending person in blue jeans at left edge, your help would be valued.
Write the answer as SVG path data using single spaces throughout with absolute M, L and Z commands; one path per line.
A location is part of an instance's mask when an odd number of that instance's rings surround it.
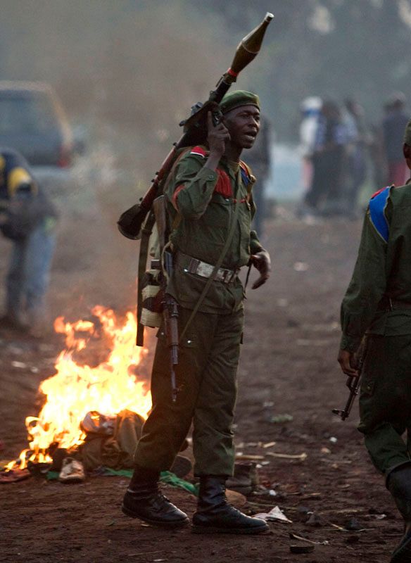
M 0 148 L 0 230 L 13 243 L 0 326 L 42 336 L 56 220 L 25 158 Z

